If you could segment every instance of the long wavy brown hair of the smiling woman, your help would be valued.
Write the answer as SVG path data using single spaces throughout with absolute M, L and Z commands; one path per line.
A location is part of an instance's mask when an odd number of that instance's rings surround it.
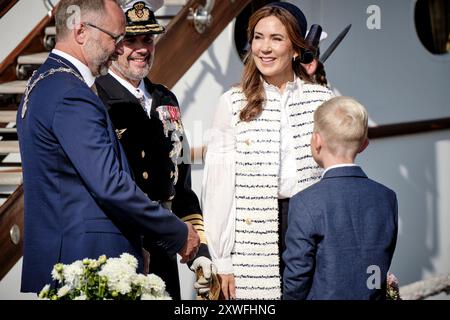
M 292 46 L 295 52 L 300 54 L 301 49 L 308 48 L 305 40 L 303 39 L 300 28 L 297 25 L 297 20 L 289 11 L 275 7 L 265 6 L 256 11 L 249 19 L 247 38 L 251 46 L 253 36 L 255 32 L 256 24 L 259 20 L 274 16 L 278 18 L 281 23 L 286 27 L 286 32 L 289 39 L 292 42 Z M 244 70 L 242 71 L 240 86 L 247 99 L 247 105 L 241 110 L 239 118 L 241 121 L 249 122 L 256 119 L 263 110 L 263 104 L 265 100 L 265 93 L 263 88 L 263 82 L 261 81 L 261 72 L 256 67 L 255 61 L 251 57 L 251 49 L 245 57 Z M 303 66 L 300 64 L 299 59 L 295 59 L 292 62 L 292 69 L 294 73 L 302 80 L 312 82 L 310 76 L 306 73 Z

